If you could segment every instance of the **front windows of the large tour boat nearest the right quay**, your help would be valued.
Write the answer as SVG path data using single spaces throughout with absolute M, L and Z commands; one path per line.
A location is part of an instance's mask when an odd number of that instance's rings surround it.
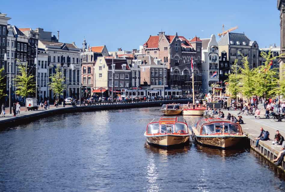
M 201 134 L 241 134 L 241 129 L 238 127 L 238 125 L 229 123 L 215 123 L 204 125 Z

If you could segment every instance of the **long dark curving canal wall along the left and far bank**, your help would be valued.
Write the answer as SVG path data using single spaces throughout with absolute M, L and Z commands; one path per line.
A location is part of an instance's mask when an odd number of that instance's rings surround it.
M 166 101 L 147 101 L 139 103 L 121 103 L 121 104 L 101 104 L 101 105 L 88 105 L 88 106 L 77 106 L 77 107 L 61 107 L 50 110 L 38 110 L 32 111 L 28 114 L 16 116 L 11 118 L 0 119 L 0 129 L 11 127 L 13 125 L 20 125 L 23 123 L 29 123 L 43 117 L 54 116 L 63 113 L 76 113 L 76 112 L 87 112 L 87 111 L 98 111 L 98 110 L 117 110 L 127 108 L 140 108 L 140 107 L 156 107 L 163 104 L 169 103 L 180 103 L 186 104 L 189 99 L 175 99 Z M 6 113 L 8 110 L 6 109 Z M 159 112 L 158 112 L 159 113 Z

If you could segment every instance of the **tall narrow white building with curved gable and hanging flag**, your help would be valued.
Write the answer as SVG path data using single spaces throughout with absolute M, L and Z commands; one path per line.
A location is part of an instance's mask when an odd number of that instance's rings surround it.
M 216 36 L 202 40 L 202 91 L 212 91 L 211 85 L 219 81 L 219 46 Z

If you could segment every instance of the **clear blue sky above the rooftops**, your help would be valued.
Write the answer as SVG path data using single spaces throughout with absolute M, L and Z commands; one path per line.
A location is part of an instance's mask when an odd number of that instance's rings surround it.
M 60 42 L 81 47 L 106 45 L 109 51 L 139 48 L 149 35 L 165 31 L 185 38 L 210 38 L 211 34 L 238 26 L 259 47 L 280 45 L 277 0 L 188 1 L 2 1 L 1 13 L 17 27 L 60 31 Z M 5 7 L 5 9 L 3 9 Z M 217 40 L 219 38 L 217 37 Z

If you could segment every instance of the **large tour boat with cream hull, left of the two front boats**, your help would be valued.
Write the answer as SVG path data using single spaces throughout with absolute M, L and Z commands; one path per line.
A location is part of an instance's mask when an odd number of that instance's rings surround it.
M 182 117 L 155 118 L 146 127 L 144 136 L 149 144 L 170 147 L 189 141 L 189 129 Z

